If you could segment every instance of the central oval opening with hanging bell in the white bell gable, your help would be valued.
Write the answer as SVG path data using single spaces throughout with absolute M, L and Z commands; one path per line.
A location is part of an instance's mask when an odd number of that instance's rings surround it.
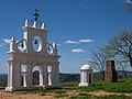
M 38 36 L 33 37 L 33 48 L 35 52 L 42 51 L 42 40 Z

